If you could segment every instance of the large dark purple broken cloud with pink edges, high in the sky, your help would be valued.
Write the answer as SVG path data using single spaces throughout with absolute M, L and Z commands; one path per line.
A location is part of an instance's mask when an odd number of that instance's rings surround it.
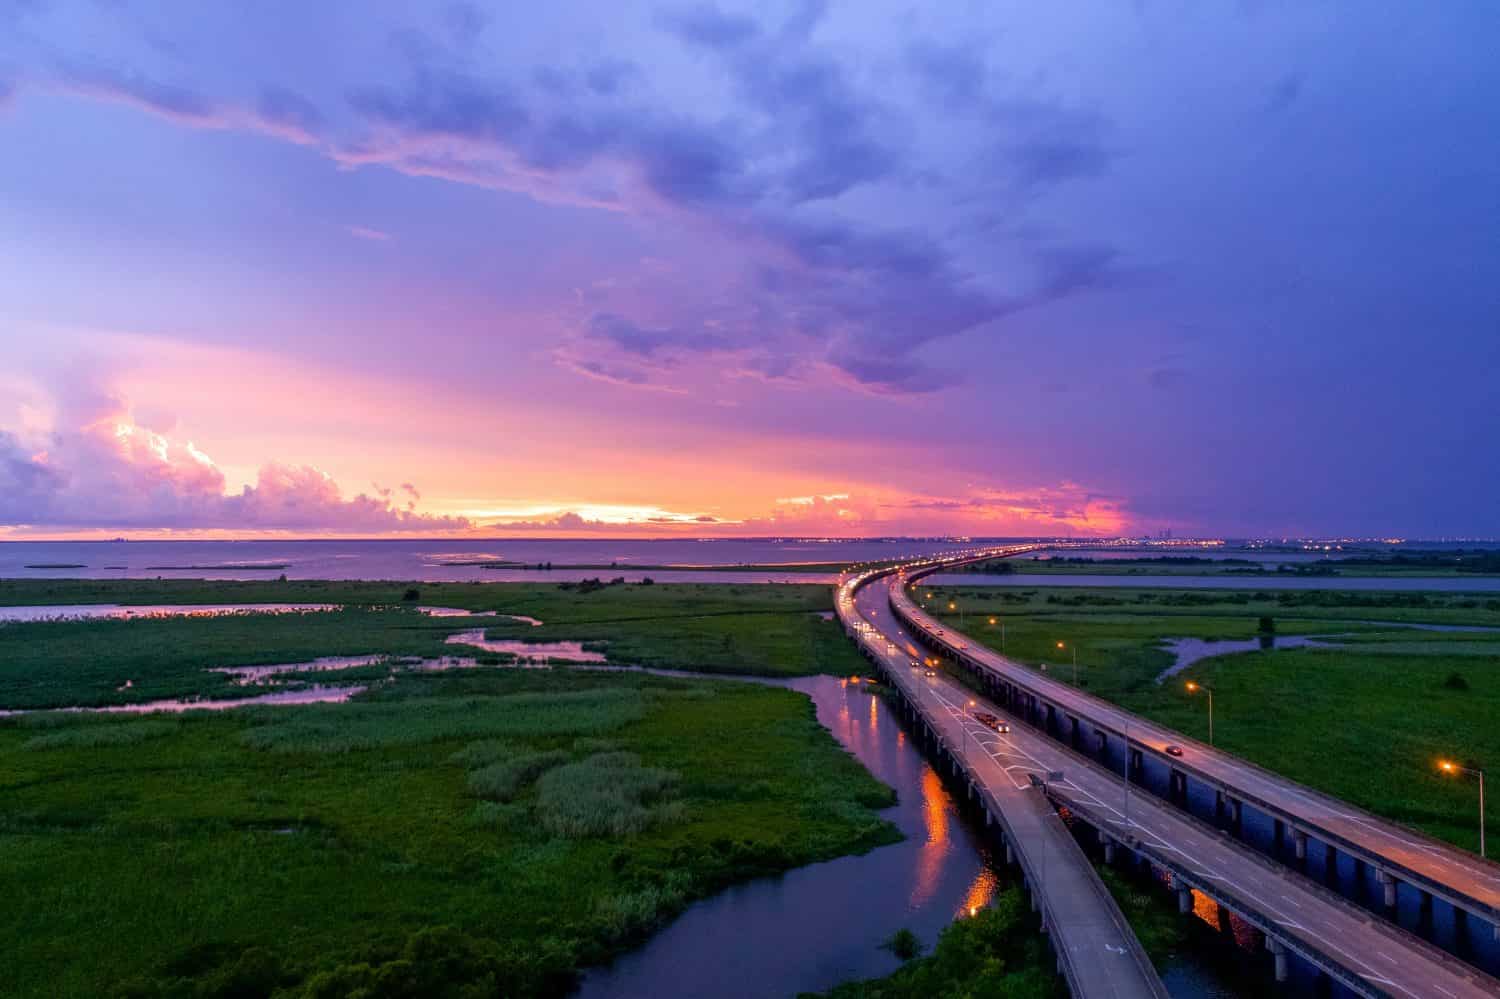
M 1005 93 L 980 45 L 914 44 L 908 64 L 926 104 L 903 105 L 888 80 L 813 39 L 822 14 L 824 4 L 804 3 L 780 27 L 706 3 L 658 15 L 669 38 L 728 81 L 734 104 L 712 114 L 627 87 L 642 70 L 624 60 L 482 76 L 462 39 L 483 24 L 462 4 L 430 38 L 402 34 L 405 72 L 399 64 L 375 84 L 345 87 L 338 123 L 282 88 L 237 105 L 93 63 L 69 64 L 58 80 L 194 128 L 316 146 L 346 168 L 651 214 L 717 242 L 734 272 L 712 286 L 662 288 L 656 300 L 670 304 L 651 321 L 633 315 L 642 298 L 594 302 L 572 318 L 579 333 L 556 362 L 618 386 L 660 387 L 674 364 L 702 356 L 723 357 L 730 375 L 831 372 L 867 392 L 930 393 L 960 380 L 916 357 L 924 345 L 1114 279 L 1106 246 L 1016 238 L 1016 226 L 988 236 L 1008 244 L 976 246 L 946 231 L 972 234 L 981 213 L 970 206 L 996 192 L 1016 204 L 1106 171 L 1100 116 Z M 968 132 L 982 135 L 982 147 L 939 150 L 939 166 L 924 164 L 932 150 L 916 141 L 921 129 L 958 117 L 980 118 Z M 854 208 L 861 196 L 910 198 L 938 220 Z

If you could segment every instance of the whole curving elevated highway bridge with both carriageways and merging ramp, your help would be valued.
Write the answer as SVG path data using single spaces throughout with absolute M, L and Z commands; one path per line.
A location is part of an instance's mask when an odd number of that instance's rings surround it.
M 842 582 L 837 606 L 864 654 L 902 694 L 912 723 L 984 804 L 1008 852 L 1018 855 L 1074 994 L 1098 994 L 1088 981 L 1089 964 L 1118 975 L 1126 962 L 1116 958 L 1131 956 L 1138 964 L 1138 946 L 1132 938 L 1107 939 L 1119 933 L 1118 910 L 1098 902 L 1102 886 L 1089 884 L 1094 872 L 1084 876 L 1088 861 L 1071 834 L 1071 852 L 1052 834 L 1059 825 L 1047 818 L 1056 814 L 1052 806 L 1092 826 L 1108 854 L 1125 849 L 1170 873 L 1184 906 L 1198 892 L 1254 927 L 1278 976 L 1302 962 L 1353 994 L 1500 996 L 1500 982 L 1480 968 L 1318 884 L 1308 873 L 1308 858 L 1328 850 L 1359 856 L 1378 885 L 1395 885 L 1392 892 L 1426 891 L 1430 898 L 1464 906 L 1466 920 L 1473 916 L 1468 933 L 1494 932 L 1496 866 L 1041 676 L 944 627 L 906 592 L 932 572 L 1023 550 L 1032 549 L 958 554 L 860 573 Z M 912 669 L 927 650 L 966 672 L 968 686 L 942 670 L 928 676 L 926 669 Z M 1010 732 L 998 734 L 976 720 L 974 712 L 981 710 L 1011 722 Z M 1184 756 L 1167 756 L 1168 744 L 1184 747 Z M 1166 780 L 1154 784 L 1148 770 L 1161 770 Z M 1214 807 L 1208 816 L 1194 814 L 1185 806 L 1190 798 L 1202 801 L 1204 789 L 1215 795 Z M 1052 806 L 1038 810 L 1042 796 Z M 1244 836 L 1252 808 L 1266 810 L 1284 849 L 1260 849 Z M 1052 864 L 1044 867 L 1042 858 Z M 1083 912 L 1070 912 L 1070 900 L 1090 897 Z M 1152 976 L 1137 978 L 1137 988 L 1160 988 Z

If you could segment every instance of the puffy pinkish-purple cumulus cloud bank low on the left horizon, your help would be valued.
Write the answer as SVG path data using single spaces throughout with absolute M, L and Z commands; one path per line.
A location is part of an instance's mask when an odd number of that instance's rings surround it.
M 309 465 L 261 466 L 254 484 L 226 489 L 218 465 L 192 441 L 174 441 L 132 417 L 108 392 L 75 388 L 58 423 L 30 444 L 0 432 L 0 525 L 56 530 L 182 531 L 464 531 L 464 518 L 417 513 L 388 495 L 345 498 Z

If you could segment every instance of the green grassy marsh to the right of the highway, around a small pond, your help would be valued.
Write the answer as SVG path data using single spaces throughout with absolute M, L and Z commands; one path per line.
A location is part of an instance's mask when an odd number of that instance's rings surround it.
M 960 624 L 946 610 L 954 600 L 964 610 L 963 630 L 1000 648 L 1004 622 L 1005 652 L 1032 666 L 1048 663 L 1054 680 L 1071 681 L 1076 646 L 1080 682 L 1090 693 L 1198 740 L 1208 738 L 1208 705 L 1184 684 L 1212 687 L 1221 748 L 1478 848 L 1476 789 L 1440 776 L 1436 760 L 1500 762 L 1500 633 L 1389 622 L 1500 627 L 1500 600 L 1342 591 L 933 592 L 948 624 Z M 1155 682 L 1173 663 L 1162 639 L 1251 639 L 1262 616 L 1274 620 L 1276 634 L 1342 638 L 1338 648 L 1218 656 Z

